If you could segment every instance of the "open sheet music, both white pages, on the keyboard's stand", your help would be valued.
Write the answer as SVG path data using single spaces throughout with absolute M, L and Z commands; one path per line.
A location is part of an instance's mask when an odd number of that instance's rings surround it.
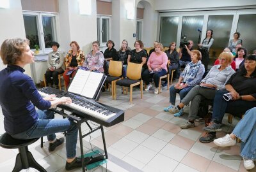
M 92 99 L 102 81 L 103 75 L 103 73 L 78 69 L 76 76 L 68 88 L 68 92 L 80 94 L 81 96 Z

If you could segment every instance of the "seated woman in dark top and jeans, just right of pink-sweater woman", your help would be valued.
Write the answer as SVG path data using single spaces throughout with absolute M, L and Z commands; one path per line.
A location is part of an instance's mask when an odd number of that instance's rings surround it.
M 175 42 L 170 43 L 170 47 L 168 50 L 165 51 L 165 53 L 168 57 L 169 74 L 172 75 L 172 70 L 177 70 L 179 68 L 179 53 L 176 50 L 176 43 Z M 177 78 L 177 76 L 174 78 Z M 162 86 L 165 87 L 166 85 L 167 85 L 167 80 L 162 84 Z

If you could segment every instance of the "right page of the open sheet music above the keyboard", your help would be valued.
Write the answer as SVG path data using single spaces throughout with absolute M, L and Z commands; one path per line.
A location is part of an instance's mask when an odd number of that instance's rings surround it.
M 91 72 L 88 77 L 88 81 L 84 85 L 81 95 L 89 98 L 93 98 L 93 96 L 95 95 L 95 92 L 97 91 L 100 85 L 102 77 L 103 77 L 103 73 Z

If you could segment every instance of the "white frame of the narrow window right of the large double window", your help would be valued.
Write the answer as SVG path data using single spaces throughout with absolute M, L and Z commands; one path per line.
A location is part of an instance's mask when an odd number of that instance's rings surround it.
M 109 15 L 97 15 L 97 18 L 99 18 L 99 25 L 97 23 L 97 32 L 99 30 L 99 37 L 97 38 L 98 41 L 100 42 L 100 47 L 106 47 L 107 42 L 102 42 L 102 19 L 109 19 L 109 28 L 108 28 L 108 40 L 111 38 L 111 16 Z M 108 41 L 107 40 L 107 41 Z

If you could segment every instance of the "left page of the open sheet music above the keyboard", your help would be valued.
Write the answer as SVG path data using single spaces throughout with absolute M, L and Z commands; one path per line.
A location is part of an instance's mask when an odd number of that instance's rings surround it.
M 90 75 L 90 71 L 84 71 L 84 70 L 78 69 L 76 76 L 73 78 L 72 83 L 68 87 L 68 92 L 81 94 L 84 88 L 84 85 L 88 80 L 89 75 Z

